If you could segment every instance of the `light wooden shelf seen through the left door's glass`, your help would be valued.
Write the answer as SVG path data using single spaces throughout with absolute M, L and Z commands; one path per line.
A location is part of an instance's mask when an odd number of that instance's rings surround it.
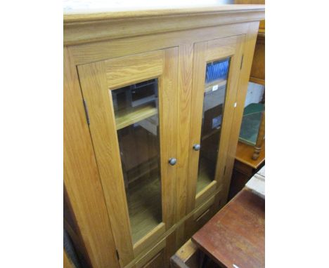
M 117 130 L 130 126 L 133 123 L 146 119 L 157 114 L 157 107 L 153 105 L 143 105 L 122 109 L 115 113 L 115 124 Z

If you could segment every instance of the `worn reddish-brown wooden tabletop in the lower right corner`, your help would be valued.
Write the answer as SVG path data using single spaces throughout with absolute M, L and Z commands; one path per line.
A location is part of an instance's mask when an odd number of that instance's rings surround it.
M 265 200 L 244 188 L 192 241 L 221 267 L 265 267 Z

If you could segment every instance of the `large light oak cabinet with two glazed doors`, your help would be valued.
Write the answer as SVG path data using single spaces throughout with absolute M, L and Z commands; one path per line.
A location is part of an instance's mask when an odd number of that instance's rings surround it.
M 262 18 L 65 15 L 65 203 L 91 267 L 166 267 L 224 206 Z

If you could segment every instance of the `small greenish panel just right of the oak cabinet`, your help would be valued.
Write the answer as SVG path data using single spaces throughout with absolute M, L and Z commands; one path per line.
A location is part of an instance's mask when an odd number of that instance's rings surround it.
M 250 103 L 250 105 L 245 107 L 240 129 L 240 142 L 252 146 L 256 145 L 259 125 L 264 109 L 265 106 L 262 103 Z

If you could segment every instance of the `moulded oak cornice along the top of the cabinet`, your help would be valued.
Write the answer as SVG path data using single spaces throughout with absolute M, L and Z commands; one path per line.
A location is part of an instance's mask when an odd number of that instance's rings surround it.
M 64 15 L 64 45 L 264 20 L 264 5 Z

